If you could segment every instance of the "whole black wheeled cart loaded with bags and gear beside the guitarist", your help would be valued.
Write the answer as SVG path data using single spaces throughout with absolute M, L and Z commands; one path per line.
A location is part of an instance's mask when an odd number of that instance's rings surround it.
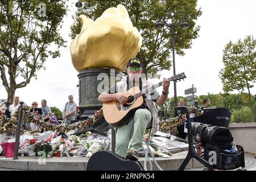
M 245 167 L 243 148 L 233 144 L 232 133 L 228 129 L 231 116 L 228 109 L 212 108 L 203 115 L 190 118 L 188 107 L 181 106 L 175 107 L 175 113 L 187 116 L 187 121 L 183 124 L 187 133 L 179 130 L 179 136 L 187 138 L 189 151 L 180 170 L 185 168 L 191 158 L 199 160 L 209 170 Z M 204 150 L 198 154 L 195 148 Z

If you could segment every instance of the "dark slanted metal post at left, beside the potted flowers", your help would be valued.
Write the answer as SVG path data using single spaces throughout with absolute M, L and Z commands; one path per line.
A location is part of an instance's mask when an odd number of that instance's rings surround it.
M 19 137 L 20 137 L 20 127 L 22 124 L 22 114 L 23 114 L 23 101 L 19 102 L 20 106 L 18 109 L 18 123 L 17 123 L 17 128 L 16 128 L 16 139 L 15 139 L 15 151 L 14 151 L 14 158 L 13 159 L 18 159 L 18 152 L 19 152 Z

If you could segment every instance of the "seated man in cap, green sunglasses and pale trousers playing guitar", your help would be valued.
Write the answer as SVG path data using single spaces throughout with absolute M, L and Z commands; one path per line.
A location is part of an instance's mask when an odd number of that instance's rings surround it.
M 112 85 L 108 90 L 101 93 L 98 100 L 106 103 L 110 101 L 119 101 L 122 104 L 127 103 L 128 98 L 122 95 L 130 88 L 138 85 L 140 90 L 145 90 L 154 85 L 141 77 L 143 73 L 142 65 L 136 59 L 130 60 L 127 64 L 126 72 L 128 76 Z M 148 127 L 152 126 L 152 131 L 158 131 L 157 111 L 155 104 L 163 105 L 168 96 L 170 81 L 163 79 L 163 92 L 159 93 L 154 89 L 145 94 L 145 109 L 138 109 L 134 116 L 125 125 L 118 127 L 116 135 L 115 153 L 122 158 L 138 160 L 138 152 L 142 147 L 142 137 Z M 155 103 L 154 103 L 154 102 Z M 127 151 L 128 150 L 128 151 Z

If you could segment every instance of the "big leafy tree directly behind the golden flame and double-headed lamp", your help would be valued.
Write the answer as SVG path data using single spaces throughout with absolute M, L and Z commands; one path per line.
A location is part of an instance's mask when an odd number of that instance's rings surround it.
M 192 40 L 199 35 L 199 26 L 196 26 L 195 20 L 201 15 L 201 10 L 196 9 L 197 1 L 186 0 L 81 0 L 83 7 L 73 16 L 74 23 L 71 26 L 71 38 L 75 38 L 80 32 L 80 25 L 77 22 L 79 15 L 85 14 L 88 18 L 96 20 L 109 7 L 117 7 L 122 4 L 126 7 L 131 22 L 137 27 L 142 35 L 143 42 L 141 51 L 137 54 L 137 59 L 141 61 L 144 73 L 157 76 L 158 71 L 170 69 L 171 30 L 165 27 L 163 30 L 155 28 L 155 23 L 159 19 L 174 23 L 186 19 L 190 24 L 187 30 L 181 27 L 175 28 L 175 50 L 177 54 L 184 55 L 184 49 L 191 48 Z M 171 16 L 174 13 L 174 17 Z

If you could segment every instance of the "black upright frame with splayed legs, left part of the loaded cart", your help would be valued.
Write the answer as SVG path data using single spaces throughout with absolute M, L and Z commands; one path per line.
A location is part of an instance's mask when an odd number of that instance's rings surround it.
M 183 171 L 185 167 L 187 166 L 189 160 L 192 158 L 198 160 L 200 163 L 204 164 L 205 167 L 207 167 L 209 170 L 212 170 L 213 166 L 212 164 L 209 164 L 207 160 L 203 159 L 199 154 L 197 154 L 194 146 L 193 146 L 193 139 L 192 139 L 192 130 L 191 130 L 191 121 L 189 117 L 189 109 L 187 106 L 181 106 L 181 107 L 175 107 L 175 110 L 179 110 L 180 114 L 186 114 L 187 121 L 185 124 L 185 127 L 188 129 L 188 155 L 184 159 L 183 163 L 179 167 L 178 171 Z

